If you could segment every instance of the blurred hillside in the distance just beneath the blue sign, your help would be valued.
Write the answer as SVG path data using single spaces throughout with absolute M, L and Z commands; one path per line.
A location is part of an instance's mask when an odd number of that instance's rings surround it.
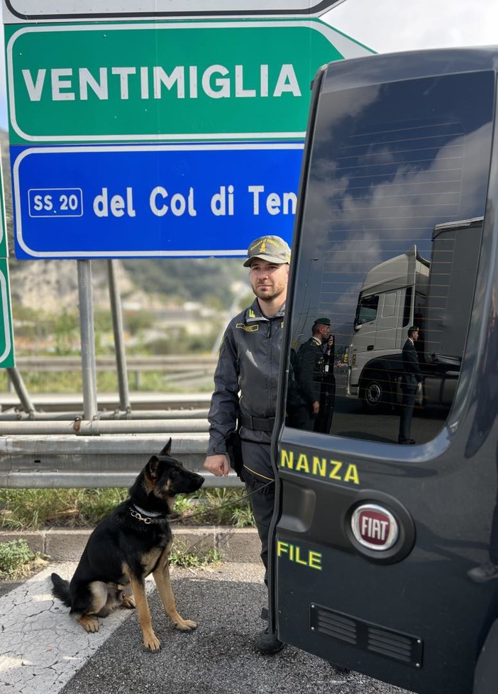
M 77 306 L 75 260 L 16 260 L 13 250 L 13 213 L 9 140 L 0 131 L 1 163 L 4 172 L 6 227 L 13 305 L 48 312 Z M 147 258 L 118 260 L 118 283 L 123 300 L 135 307 L 158 308 L 164 304 L 201 302 L 227 308 L 231 287 L 247 282 L 240 258 Z M 92 261 L 94 304 L 109 305 L 107 263 Z

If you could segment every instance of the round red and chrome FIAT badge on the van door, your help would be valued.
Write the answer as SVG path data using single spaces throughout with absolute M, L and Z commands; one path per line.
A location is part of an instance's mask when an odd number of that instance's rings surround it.
M 399 537 L 397 520 L 377 504 L 358 506 L 351 517 L 351 530 L 360 545 L 377 552 L 391 549 Z

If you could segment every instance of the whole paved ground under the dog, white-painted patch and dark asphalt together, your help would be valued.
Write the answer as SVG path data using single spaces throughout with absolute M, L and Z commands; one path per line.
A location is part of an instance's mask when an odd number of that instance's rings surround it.
M 344 676 L 291 646 L 260 656 L 254 649 L 265 624 L 260 564 L 174 568 L 179 612 L 199 627 L 178 632 L 151 590 L 162 641 L 157 654 L 143 649 L 135 612 L 115 612 L 101 620 L 98 634 L 84 632 L 50 595 L 53 568 L 0 597 L 1 694 L 406 694 L 358 673 Z M 56 569 L 70 575 L 74 564 Z

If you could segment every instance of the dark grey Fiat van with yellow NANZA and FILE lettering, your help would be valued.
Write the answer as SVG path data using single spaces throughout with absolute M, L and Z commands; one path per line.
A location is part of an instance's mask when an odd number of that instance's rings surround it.
M 498 691 L 497 70 L 498 48 L 321 68 L 294 228 L 270 626 L 332 663 L 424 694 Z M 403 301 L 415 322 L 392 326 L 402 331 L 401 370 L 405 348 L 428 363 L 424 345 L 455 336 L 453 397 L 419 408 L 407 386 L 401 404 L 365 415 L 347 358 L 365 277 L 413 246 L 430 262 L 438 225 L 475 219 L 457 282 L 453 249 L 438 247 L 431 311 L 417 313 L 414 292 L 399 292 L 402 270 L 382 309 L 399 314 Z M 333 365 L 335 398 L 323 400 L 333 407 L 325 433 L 292 426 L 284 397 L 296 378 L 289 356 L 319 316 L 345 355 Z M 402 419 L 411 428 L 399 443 Z

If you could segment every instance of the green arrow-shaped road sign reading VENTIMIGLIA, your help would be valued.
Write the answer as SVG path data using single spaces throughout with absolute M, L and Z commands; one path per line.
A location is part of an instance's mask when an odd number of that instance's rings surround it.
M 11 145 L 303 138 L 316 70 L 372 53 L 312 18 L 5 31 Z

